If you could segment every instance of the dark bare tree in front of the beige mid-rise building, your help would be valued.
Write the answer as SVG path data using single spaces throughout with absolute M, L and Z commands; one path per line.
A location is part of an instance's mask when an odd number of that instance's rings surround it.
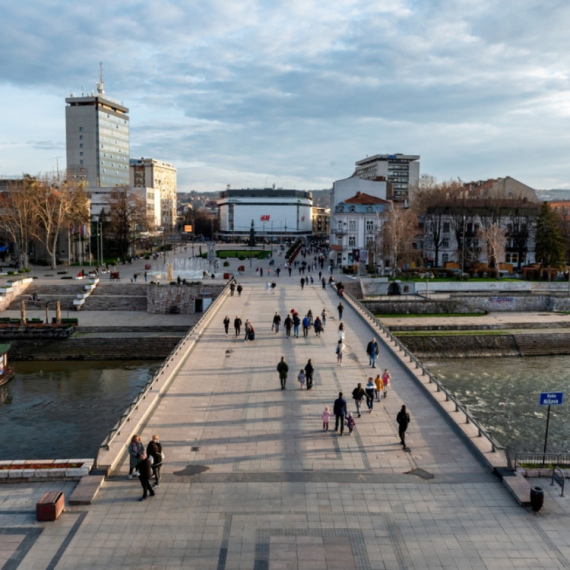
M 144 199 L 129 186 L 118 186 L 107 196 L 108 228 L 115 238 L 120 257 L 125 260 L 137 234 L 151 227 Z

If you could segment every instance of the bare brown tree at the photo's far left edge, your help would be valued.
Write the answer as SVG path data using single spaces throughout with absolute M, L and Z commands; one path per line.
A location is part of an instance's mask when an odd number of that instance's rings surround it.
M 28 267 L 30 242 L 37 227 L 33 197 L 39 186 L 35 178 L 25 174 L 21 183 L 0 194 L 0 222 L 16 246 L 18 265 L 23 269 Z

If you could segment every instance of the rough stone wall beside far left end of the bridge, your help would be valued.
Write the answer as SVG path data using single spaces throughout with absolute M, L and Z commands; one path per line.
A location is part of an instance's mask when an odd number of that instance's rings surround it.
M 215 299 L 225 284 L 154 285 L 148 287 L 147 312 L 166 315 L 191 315 L 196 312 L 196 299 Z

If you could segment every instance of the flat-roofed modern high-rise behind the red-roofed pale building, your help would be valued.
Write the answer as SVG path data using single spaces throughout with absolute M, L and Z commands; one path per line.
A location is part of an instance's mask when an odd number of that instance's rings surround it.
M 406 202 L 410 188 L 420 180 L 420 157 L 417 154 L 375 154 L 357 161 L 353 176 L 365 180 L 384 179 L 392 186 L 388 199 Z

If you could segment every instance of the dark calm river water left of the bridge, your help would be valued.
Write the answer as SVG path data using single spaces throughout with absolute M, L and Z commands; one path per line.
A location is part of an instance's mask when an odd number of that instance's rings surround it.
M 0 459 L 95 457 L 157 361 L 16 362 L 0 387 Z

